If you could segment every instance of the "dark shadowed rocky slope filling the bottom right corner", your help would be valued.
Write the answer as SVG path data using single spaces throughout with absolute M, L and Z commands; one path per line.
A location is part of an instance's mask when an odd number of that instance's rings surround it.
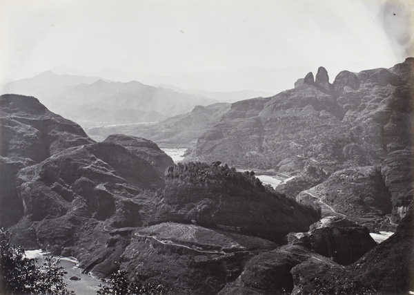
M 293 267 L 292 294 L 407 294 L 413 290 L 413 214 L 393 236 L 348 267 L 308 260 Z

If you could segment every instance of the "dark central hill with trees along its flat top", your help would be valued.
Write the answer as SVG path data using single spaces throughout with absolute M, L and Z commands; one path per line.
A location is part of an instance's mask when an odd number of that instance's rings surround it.
M 313 209 L 264 187 L 253 173 L 190 162 L 168 168 L 155 220 L 193 222 L 281 241 L 290 231 L 306 231 L 318 218 Z

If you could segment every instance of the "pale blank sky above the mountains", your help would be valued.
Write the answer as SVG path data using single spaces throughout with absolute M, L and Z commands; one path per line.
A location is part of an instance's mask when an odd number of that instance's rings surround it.
M 0 81 L 57 67 L 135 77 L 388 68 L 413 55 L 412 2 L 0 0 Z

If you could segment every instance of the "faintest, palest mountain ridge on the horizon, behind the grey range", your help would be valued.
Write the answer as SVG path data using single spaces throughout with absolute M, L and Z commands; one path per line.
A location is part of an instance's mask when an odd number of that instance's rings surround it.
M 157 86 L 164 85 L 167 88 L 197 89 L 208 92 L 238 92 L 257 91 L 275 95 L 280 91 L 293 87 L 297 77 L 307 73 L 312 68 L 295 66 L 290 68 L 262 68 L 259 66 L 247 66 L 237 70 L 206 70 L 190 73 L 173 73 L 171 75 L 128 73 L 114 68 L 81 72 L 66 66 L 52 68 L 54 73 L 102 77 L 111 81 L 130 82 L 137 80 L 141 83 Z M 176 91 L 176 88 L 172 88 Z M 182 91 L 178 91 L 182 92 Z M 207 97 L 210 97 L 206 95 Z M 242 99 L 265 96 L 252 95 Z M 268 95 L 267 95 L 268 96 Z M 241 100 L 241 99 L 237 99 Z M 219 100 L 230 102 L 229 100 Z M 235 100 L 233 100 L 235 102 Z

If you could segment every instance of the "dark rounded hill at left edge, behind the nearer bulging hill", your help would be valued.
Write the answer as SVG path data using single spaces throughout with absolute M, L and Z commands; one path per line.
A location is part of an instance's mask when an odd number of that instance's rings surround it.
M 12 225 L 23 216 L 16 173 L 72 146 L 94 142 L 81 127 L 48 111 L 34 97 L 0 96 L 0 223 Z

